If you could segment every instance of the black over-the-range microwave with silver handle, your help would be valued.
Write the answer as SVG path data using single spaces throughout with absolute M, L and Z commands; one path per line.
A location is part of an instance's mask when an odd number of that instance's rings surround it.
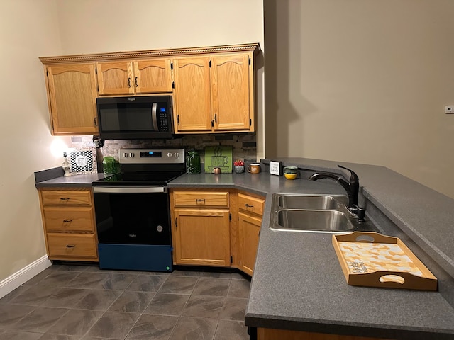
M 96 98 L 103 140 L 172 138 L 172 96 Z

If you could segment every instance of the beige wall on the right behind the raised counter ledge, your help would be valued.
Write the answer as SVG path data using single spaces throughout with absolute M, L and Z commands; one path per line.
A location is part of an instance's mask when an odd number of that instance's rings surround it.
M 454 198 L 454 1 L 264 12 L 267 157 L 383 165 Z

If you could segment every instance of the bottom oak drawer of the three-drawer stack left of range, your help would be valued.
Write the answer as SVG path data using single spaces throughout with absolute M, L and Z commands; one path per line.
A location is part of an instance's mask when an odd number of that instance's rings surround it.
M 48 234 L 49 257 L 87 257 L 96 259 L 94 234 Z

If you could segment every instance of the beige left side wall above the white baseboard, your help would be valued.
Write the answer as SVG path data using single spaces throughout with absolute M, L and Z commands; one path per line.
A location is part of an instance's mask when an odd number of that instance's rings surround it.
M 62 162 L 38 60 L 61 52 L 55 9 L 53 0 L 1 1 L 0 281 L 45 255 L 33 172 Z

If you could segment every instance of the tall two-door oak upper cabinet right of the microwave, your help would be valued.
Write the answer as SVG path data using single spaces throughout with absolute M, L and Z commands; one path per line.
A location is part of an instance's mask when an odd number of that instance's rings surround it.
M 253 53 L 174 61 L 175 132 L 245 132 L 253 125 Z

